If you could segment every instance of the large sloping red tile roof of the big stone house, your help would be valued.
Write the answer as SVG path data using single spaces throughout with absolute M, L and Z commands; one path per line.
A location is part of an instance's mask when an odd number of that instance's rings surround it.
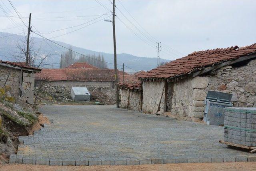
M 221 62 L 242 58 L 244 56 L 256 54 L 256 44 L 238 48 L 238 46 L 193 52 L 186 57 L 174 60 L 159 66 L 153 70 L 140 74 L 138 77 L 145 78 L 174 78 L 196 72 L 207 66 L 219 64 Z

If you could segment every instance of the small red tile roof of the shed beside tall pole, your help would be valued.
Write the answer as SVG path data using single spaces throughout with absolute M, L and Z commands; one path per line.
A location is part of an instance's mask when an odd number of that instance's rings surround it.
M 138 74 L 142 74 L 145 71 L 140 71 L 135 74 L 130 74 L 124 76 L 124 82 L 120 79 L 120 82 L 118 83 L 118 87 L 121 89 L 132 89 L 132 90 L 141 90 L 142 89 L 142 83 L 138 78 Z

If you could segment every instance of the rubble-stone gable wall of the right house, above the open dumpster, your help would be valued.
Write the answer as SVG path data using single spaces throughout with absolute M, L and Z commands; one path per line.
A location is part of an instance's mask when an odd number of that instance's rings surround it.
M 241 67 L 226 66 L 209 77 L 205 91 L 218 90 L 232 93 L 235 107 L 256 107 L 256 60 Z

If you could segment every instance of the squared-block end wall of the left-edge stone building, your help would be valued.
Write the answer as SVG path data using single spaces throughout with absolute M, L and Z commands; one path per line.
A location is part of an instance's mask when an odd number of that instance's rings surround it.
M 34 103 L 35 74 L 23 72 L 22 101 L 28 104 Z

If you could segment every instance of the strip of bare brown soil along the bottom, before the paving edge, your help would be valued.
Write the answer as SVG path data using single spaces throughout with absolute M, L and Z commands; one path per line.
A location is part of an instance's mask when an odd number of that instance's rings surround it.
M 46 166 L 46 165 L 0 165 L 1 171 L 234 171 L 256 170 L 256 162 L 230 162 L 230 163 L 180 163 L 156 165 L 131 165 L 131 166 Z

